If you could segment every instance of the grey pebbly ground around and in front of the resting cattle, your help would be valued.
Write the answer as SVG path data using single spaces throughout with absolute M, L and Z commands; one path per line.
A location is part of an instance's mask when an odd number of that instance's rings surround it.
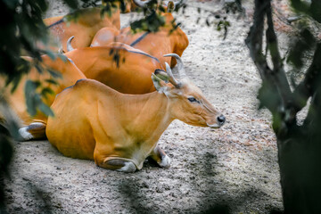
M 53 1 L 51 15 L 68 9 Z M 206 12 L 215 1 L 188 1 L 185 15 L 175 14 L 190 45 L 185 70 L 211 103 L 226 116 L 220 129 L 191 127 L 174 121 L 160 145 L 172 160 L 170 169 L 151 161 L 124 174 L 62 156 L 47 141 L 17 142 L 11 180 L 5 192 L 10 213 L 269 213 L 282 210 L 276 137 L 270 114 L 258 111 L 260 78 L 244 45 L 248 16 L 228 16 L 223 33 L 207 27 Z M 122 14 L 126 26 L 130 14 Z M 196 23 L 198 17 L 202 19 Z M 215 212 L 216 210 L 216 212 Z

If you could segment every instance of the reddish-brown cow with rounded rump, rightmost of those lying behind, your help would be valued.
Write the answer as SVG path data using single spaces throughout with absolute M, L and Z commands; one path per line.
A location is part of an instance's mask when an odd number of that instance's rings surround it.
M 140 3 L 140 1 L 134 2 L 145 7 L 145 4 L 149 1 L 142 3 Z M 175 3 L 175 5 L 179 6 L 178 3 Z M 177 53 L 181 56 L 188 45 L 188 38 L 179 27 L 173 30 L 173 26 L 176 24 L 170 10 L 168 10 L 168 12 L 161 12 L 161 15 L 165 19 L 165 26 L 161 27 L 157 32 L 138 32 L 133 34 L 130 27 L 121 29 L 120 31 L 106 27 L 97 31 L 91 46 L 109 45 L 111 42 L 124 43 L 156 57 L 160 60 L 162 66 L 165 66 L 165 62 L 168 62 L 171 67 L 174 67 L 176 65 L 176 59 L 164 58 L 163 54 Z

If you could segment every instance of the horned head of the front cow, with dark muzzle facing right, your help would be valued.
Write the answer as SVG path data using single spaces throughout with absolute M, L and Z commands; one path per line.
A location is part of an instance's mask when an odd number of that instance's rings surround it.
M 192 126 L 210 128 L 223 126 L 226 118 L 205 98 L 201 89 L 193 85 L 186 76 L 180 57 L 176 53 L 164 55 L 164 57 L 167 56 L 177 59 L 180 79 L 174 78 L 169 64 L 166 63 L 166 71 L 155 70 L 152 81 L 156 90 L 167 96 L 171 117 Z M 167 80 L 169 84 L 166 83 Z

